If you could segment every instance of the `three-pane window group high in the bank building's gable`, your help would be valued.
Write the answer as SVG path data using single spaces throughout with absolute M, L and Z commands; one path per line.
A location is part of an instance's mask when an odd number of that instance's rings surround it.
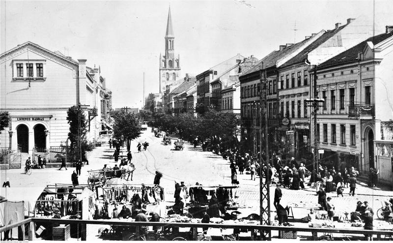
M 13 60 L 13 80 L 46 79 L 45 60 Z

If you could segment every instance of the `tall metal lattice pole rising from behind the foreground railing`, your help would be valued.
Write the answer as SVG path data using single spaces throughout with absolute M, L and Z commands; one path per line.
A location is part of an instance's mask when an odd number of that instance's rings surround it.
M 269 147 L 268 147 L 268 124 L 267 124 L 267 86 L 266 86 L 266 70 L 262 68 L 259 69 L 259 80 L 260 80 L 260 119 L 259 119 L 259 210 L 260 210 L 260 224 L 270 225 L 270 179 L 269 179 Z M 262 126 L 264 125 L 264 137 L 265 146 L 262 149 Z M 265 151 L 266 160 L 262 158 L 262 151 Z M 266 180 L 263 182 L 263 168 L 266 166 Z M 271 231 L 262 231 L 261 240 L 271 240 Z

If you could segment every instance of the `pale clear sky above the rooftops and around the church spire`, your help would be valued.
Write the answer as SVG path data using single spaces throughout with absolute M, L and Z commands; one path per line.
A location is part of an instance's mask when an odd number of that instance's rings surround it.
M 159 91 L 170 5 L 181 73 L 199 74 L 240 53 L 262 59 L 285 43 L 366 16 L 393 25 L 389 0 L 15 1 L 1 5 L 3 53 L 27 41 L 101 67 L 112 108 L 141 107 Z M 295 27 L 296 26 L 296 27 Z M 294 30 L 296 29 L 296 31 Z

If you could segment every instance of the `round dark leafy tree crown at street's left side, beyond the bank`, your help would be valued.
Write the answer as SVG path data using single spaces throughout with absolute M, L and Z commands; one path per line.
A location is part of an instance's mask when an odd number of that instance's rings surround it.
M 113 132 L 116 138 L 120 139 L 121 135 L 129 140 L 139 137 L 141 127 L 138 115 L 115 111 L 111 116 L 114 119 Z

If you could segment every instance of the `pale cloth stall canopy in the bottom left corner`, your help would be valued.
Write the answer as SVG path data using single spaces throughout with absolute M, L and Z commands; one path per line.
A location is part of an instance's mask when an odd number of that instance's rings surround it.
M 2 187 L 0 196 L 9 202 L 24 201 L 25 214 L 34 210 L 38 197 L 44 191 L 45 187 Z

